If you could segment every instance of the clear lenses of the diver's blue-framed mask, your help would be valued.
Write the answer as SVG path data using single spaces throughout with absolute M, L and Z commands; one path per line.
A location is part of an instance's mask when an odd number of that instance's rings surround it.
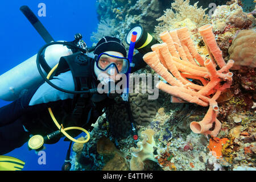
M 103 71 L 106 71 L 106 69 L 110 68 L 111 65 L 115 65 L 116 69 L 119 73 L 126 73 L 128 70 L 128 60 L 126 58 L 117 57 L 117 56 L 111 56 L 102 54 L 98 58 L 97 66 L 102 69 Z

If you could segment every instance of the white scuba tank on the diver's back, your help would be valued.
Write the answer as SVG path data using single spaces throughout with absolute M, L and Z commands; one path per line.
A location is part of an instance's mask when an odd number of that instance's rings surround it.
M 60 57 L 68 55 L 72 55 L 71 49 L 56 44 L 46 48 L 44 60 L 51 69 L 59 63 Z M 14 101 L 20 97 L 24 90 L 43 84 L 44 80 L 36 67 L 36 57 L 37 54 L 0 76 L 1 100 Z

